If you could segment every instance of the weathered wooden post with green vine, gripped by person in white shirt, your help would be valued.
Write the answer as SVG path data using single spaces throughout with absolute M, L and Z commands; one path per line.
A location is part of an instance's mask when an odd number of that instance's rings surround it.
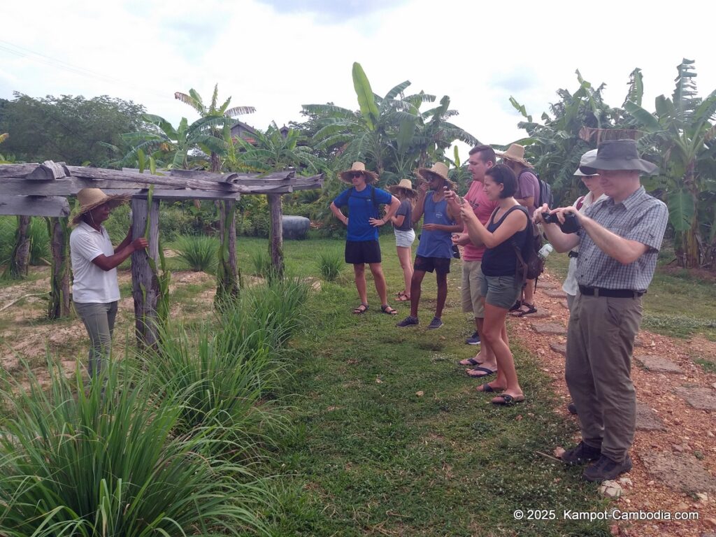
M 149 246 L 146 251 L 132 253 L 132 296 L 140 349 L 156 347 L 158 342 L 157 301 L 160 290 L 159 281 L 149 264 L 149 256 L 159 266 L 159 202 L 152 200 L 152 206 L 147 208 L 146 199 L 132 198 L 132 240 L 144 236 L 147 216 L 150 217 Z

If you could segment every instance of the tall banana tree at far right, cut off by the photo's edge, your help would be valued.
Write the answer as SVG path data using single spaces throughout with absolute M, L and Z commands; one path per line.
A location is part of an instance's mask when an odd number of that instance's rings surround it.
M 640 149 L 659 163 L 659 175 L 646 185 L 664 195 L 677 259 L 685 267 L 716 261 L 716 89 L 697 97 L 693 63 L 679 64 L 672 97 L 659 95 L 653 114 L 637 102 L 624 103 L 634 125 L 647 132 Z

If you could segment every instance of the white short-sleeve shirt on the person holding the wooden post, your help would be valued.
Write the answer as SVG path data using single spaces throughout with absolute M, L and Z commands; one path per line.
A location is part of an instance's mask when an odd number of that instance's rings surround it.
M 102 253 L 107 257 L 115 253 L 105 226 L 100 226 L 100 231 L 97 231 L 80 222 L 69 235 L 69 252 L 74 275 L 72 301 L 108 304 L 120 299 L 117 269 L 103 271 L 92 263 L 92 259 Z

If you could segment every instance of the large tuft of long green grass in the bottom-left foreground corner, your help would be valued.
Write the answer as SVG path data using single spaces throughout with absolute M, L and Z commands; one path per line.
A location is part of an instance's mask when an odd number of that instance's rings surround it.
M 130 360 L 87 385 L 50 364 L 44 392 L 4 385 L 14 417 L 0 436 L 0 527 L 11 536 L 140 537 L 263 532 L 263 483 L 214 458 L 206 431 L 173 434 L 178 401 L 158 403 Z M 28 371 L 29 373 L 29 371 Z M 105 395 L 106 394 L 106 395 Z

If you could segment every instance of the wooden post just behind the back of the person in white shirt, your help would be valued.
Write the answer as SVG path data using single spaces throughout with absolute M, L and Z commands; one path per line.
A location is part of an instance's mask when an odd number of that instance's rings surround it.
M 69 316 L 69 222 L 67 217 L 47 219 L 52 271 L 47 318 L 60 319 Z

